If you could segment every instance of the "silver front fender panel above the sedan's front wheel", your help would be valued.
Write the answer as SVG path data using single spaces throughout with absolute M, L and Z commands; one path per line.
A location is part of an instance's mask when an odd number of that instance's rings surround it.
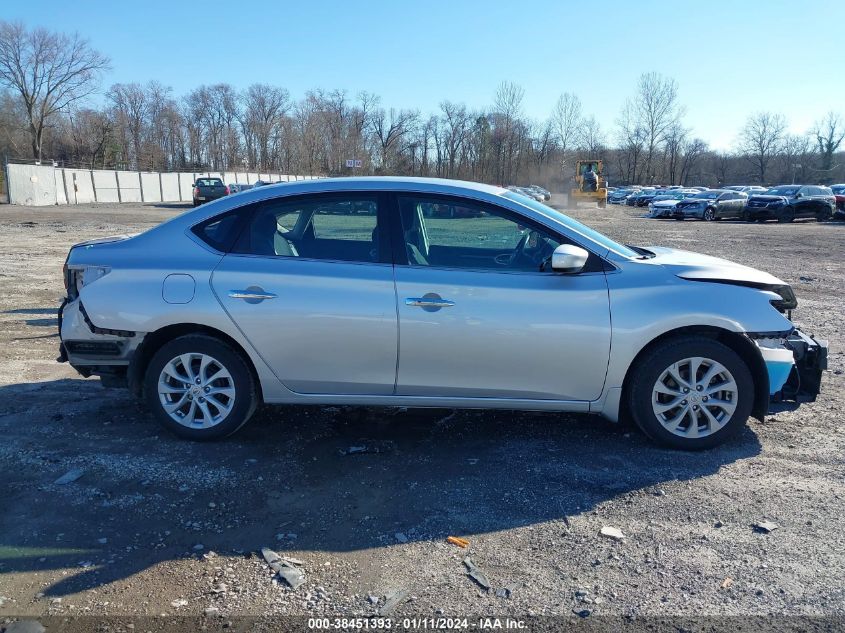
M 725 283 L 689 281 L 649 265 L 649 260 L 615 261 L 619 273 L 607 275 L 612 340 L 602 398 L 591 411 L 618 419 L 625 376 L 637 355 L 660 336 L 684 328 L 728 332 L 789 332 L 793 324 L 771 301 L 768 291 Z

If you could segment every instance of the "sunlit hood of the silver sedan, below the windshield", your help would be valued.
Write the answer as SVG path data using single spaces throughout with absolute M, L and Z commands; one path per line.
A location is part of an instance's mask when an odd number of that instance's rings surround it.
M 774 275 L 727 259 L 663 246 L 647 247 L 647 250 L 655 255 L 650 262 L 660 264 L 682 279 L 736 283 L 759 288 L 786 285 Z

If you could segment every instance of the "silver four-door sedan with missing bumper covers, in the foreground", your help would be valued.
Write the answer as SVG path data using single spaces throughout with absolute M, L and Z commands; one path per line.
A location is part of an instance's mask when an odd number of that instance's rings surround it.
M 772 275 L 458 181 L 252 189 L 74 246 L 65 285 L 60 360 L 198 440 L 348 404 L 596 413 L 699 449 L 826 367 Z

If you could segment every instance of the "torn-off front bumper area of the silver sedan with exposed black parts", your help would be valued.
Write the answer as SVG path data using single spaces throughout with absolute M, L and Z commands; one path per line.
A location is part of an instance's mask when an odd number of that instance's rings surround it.
M 799 329 L 786 336 L 754 337 L 769 374 L 772 402 L 812 402 L 821 391 L 822 372 L 827 369 L 828 343 Z

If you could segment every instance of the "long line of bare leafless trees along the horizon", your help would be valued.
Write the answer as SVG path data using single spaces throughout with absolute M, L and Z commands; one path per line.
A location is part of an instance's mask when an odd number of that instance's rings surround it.
M 790 134 L 775 112 L 751 114 L 733 151 L 684 124 L 677 81 L 640 76 L 612 122 L 564 92 L 544 120 L 502 82 L 473 108 L 395 108 L 374 93 L 314 89 L 300 98 L 254 84 L 184 96 L 157 81 L 118 83 L 91 105 L 109 60 L 79 35 L 0 21 L 0 153 L 104 169 L 417 175 L 568 187 L 578 157 L 603 158 L 611 184 L 719 185 L 845 181 L 845 119 L 828 113 Z M 359 160 L 359 168 L 347 167 Z

